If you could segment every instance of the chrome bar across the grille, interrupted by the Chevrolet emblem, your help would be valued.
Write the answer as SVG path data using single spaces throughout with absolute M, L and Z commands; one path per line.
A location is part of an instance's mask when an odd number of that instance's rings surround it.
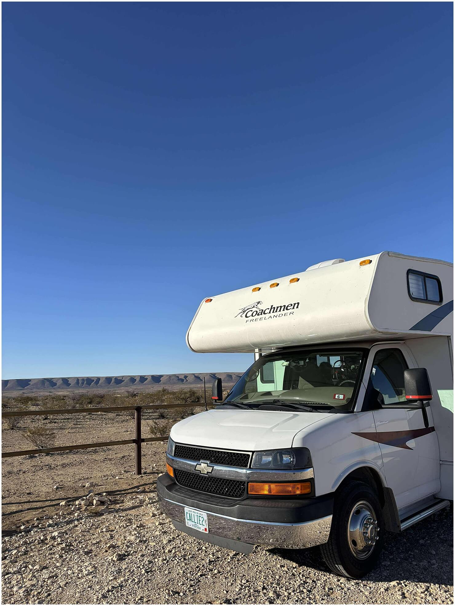
M 195 471 L 196 465 L 200 461 L 190 461 L 190 459 L 179 459 L 166 453 L 166 461 L 171 467 L 181 469 L 182 471 L 190 471 L 190 473 L 198 473 Z M 244 467 L 228 467 L 228 465 L 217 465 L 210 463 L 213 471 L 210 476 L 214 478 L 224 478 L 228 480 L 240 480 L 241 482 L 299 482 L 314 478 L 313 467 L 306 469 L 274 469 L 261 470 Z

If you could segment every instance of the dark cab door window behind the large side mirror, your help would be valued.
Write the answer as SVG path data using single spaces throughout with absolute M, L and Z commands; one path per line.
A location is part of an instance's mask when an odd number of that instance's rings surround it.
M 407 368 L 399 349 L 382 349 L 374 356 L 371 382 L 384 396 L 385 405 L 406 401 L 403 373 Z

